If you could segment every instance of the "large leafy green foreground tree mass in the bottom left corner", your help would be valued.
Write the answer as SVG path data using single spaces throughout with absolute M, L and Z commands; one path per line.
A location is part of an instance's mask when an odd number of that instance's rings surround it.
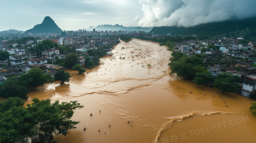
M 75 109 L 83 108 L 77 101 L 51 103 L 51 99 L 32 99 L 24 107 L 20 98 L 0 101 L 0 142 L 37 142 L 53 140 L 55 134 L 67 135 L 79 122 L 72 121 Z

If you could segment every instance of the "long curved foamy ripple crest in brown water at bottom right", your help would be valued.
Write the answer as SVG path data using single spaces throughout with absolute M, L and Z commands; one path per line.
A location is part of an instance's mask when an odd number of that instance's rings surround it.
M 158 138 L 160 137 L 160 134 L 165 131 L 166 129 L 170 128 L 172 123 L 175 121 L 182 121 L 182 119 L 189 117 L 189 116 L 205 116 L 205 115 L 212 115 L 212 114 L 216 114 L 216 113 L 221 113 L 221 114 L 240 114 L 240 113 L 233 113 L 233 112 L 222 112 L 222 111 L 216 111 L 216 112 L 209 112 L 209 111 L 193 111 L 190 113 L 185 113 L 179 117 L 174 117 L 169 121 L 166 121 L 161 127 L 160 129 L 157 131 L 157 135 L 156 137 L 153 139 L 154 143 L 158 143 Z

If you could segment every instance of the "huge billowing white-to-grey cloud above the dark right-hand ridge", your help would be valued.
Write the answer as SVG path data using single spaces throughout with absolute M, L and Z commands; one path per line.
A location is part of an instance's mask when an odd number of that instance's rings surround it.
M 133 24 L 141 27 L 195 26 L 229 19 L 256 16 L 251 0 L 140 0 L 143 17 Z

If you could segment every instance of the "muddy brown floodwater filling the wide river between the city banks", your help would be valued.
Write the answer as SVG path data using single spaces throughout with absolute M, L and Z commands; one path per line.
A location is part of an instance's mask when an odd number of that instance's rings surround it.
M 166 49 L 138 39 L 121 42 L 103 64 L 85 74 L 68 71 L 74 74 L 69 82 L 38 87 L 26 103 L 38 97 L 84 106 L 72 117 L 80 121 L 77 129 L 57 135 L 58 143 L 255 142 L 256 116 L 248 110 L 255 101 L 169 75 Z

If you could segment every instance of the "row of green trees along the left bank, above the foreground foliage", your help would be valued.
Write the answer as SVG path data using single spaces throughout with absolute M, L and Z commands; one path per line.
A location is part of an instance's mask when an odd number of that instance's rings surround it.
M 7 78 L 6 82 L 0 85 L 0 97 L 20 97 L 24 100 L 28 99 L 28 89 L 36 90 L 37 87 L 43 86 L 45 83 L 53 82 L 54 80 L 69 81 L 71 77 L 70 73 L 64 70 L 59 70 L 52 76 L 50 74 L 45 74 L 39 68 L 33 67 L 28 73 L 24 73 L 21 76 L 11 76 Z

